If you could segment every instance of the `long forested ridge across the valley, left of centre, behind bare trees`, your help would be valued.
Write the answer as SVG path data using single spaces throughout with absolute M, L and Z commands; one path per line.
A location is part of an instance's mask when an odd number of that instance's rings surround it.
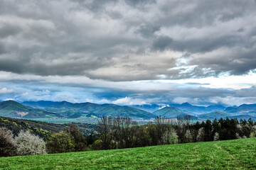
M 127 116 L 132 118 L 154 118 L 152 113 L 142 111 L 138 108 L 129 106 L 119 106 L 115 104 L 96 104 L 96 103 L 70 103 L 67 101 L 51 102 L 51 101 L 26 101 L 23 102 L 28 106 L 41 107 L 45 111 L 59 113 L 65 118 L 80 118 L 85 115 L 86 117 L 100 118 L 102 115 L 112 117 Z

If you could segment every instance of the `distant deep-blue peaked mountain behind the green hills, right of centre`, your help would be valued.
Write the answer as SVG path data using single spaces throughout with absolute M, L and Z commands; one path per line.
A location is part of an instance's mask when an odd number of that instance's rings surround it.
M 199 115 L 203 113 L 209 113 L 213 111 L 223 111 L 225 106 L 215 105 L 215 106 L 193 106 L 190 103 L 182 103 L 182 104 L 171 104 L 170 106 L 174 106 L 183 111 L 187 111 L 188 113 L 193 113 L 193 115 Z

